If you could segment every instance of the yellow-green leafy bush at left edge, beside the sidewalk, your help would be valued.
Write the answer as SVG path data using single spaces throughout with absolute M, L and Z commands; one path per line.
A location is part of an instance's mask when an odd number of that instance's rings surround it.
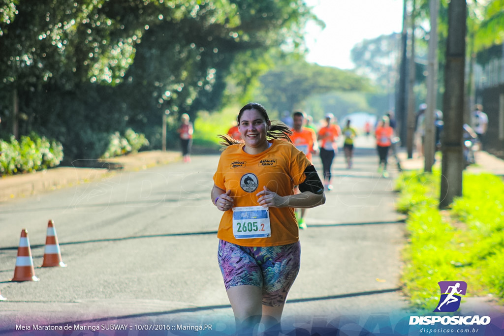
M 32 172 L 59 165 L 63 159 L 63 147 L 35 133 L 22 136 L 18 142 L 14 136 L 10 142 L 0 140 L 0 173 L 12 175 Z

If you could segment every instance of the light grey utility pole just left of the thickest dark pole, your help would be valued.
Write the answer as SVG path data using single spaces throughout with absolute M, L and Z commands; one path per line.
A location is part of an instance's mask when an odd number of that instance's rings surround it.
M 424 171 L 432 172 L 435 154 L 434 111 L 437 97 L 437 11 L 439 0 L 430 0 L 429 60 L 427 65 L 427 109 L 425 111 Z

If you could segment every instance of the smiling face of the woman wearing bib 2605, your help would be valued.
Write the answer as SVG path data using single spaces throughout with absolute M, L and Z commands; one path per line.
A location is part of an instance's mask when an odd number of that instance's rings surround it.
M 245 152 L 250 154 L 261 153 L 268 148 L 266 133 L 271 122 L 256 109 L 244 110 L 241 114 L 238 129 L 245 142 Z

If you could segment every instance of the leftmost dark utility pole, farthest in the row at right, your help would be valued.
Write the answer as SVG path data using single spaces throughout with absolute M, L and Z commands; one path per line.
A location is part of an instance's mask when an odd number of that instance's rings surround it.
M 401 34 L 401 63 L 399 65 L 399 81 L 397 88 L 397 100 L 396 100 L 396 120 L 398 135 L 401 138 L 401 146 L 406 143 L 407 134 L 407 118 L 406 118 L 406 62 L 408 61 L 407 50 L 408 50 L 408 11 L 407 4 L 408 0 L 403 0 L 403 31 Z

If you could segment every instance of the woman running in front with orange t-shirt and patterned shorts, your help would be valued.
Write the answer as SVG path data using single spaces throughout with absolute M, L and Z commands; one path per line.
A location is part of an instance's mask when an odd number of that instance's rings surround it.
M 218 260 L 238 334 L 279 332 L 287 294 L 299 271 L 294 208 L 325 203 L 313 165 L 258 103 L 237 117 L 244 143 L 220 136 L 227 148 L 214 174 L 212 201 L 222 215 Z M 294 185 L 301 193 L 294 194 Z

